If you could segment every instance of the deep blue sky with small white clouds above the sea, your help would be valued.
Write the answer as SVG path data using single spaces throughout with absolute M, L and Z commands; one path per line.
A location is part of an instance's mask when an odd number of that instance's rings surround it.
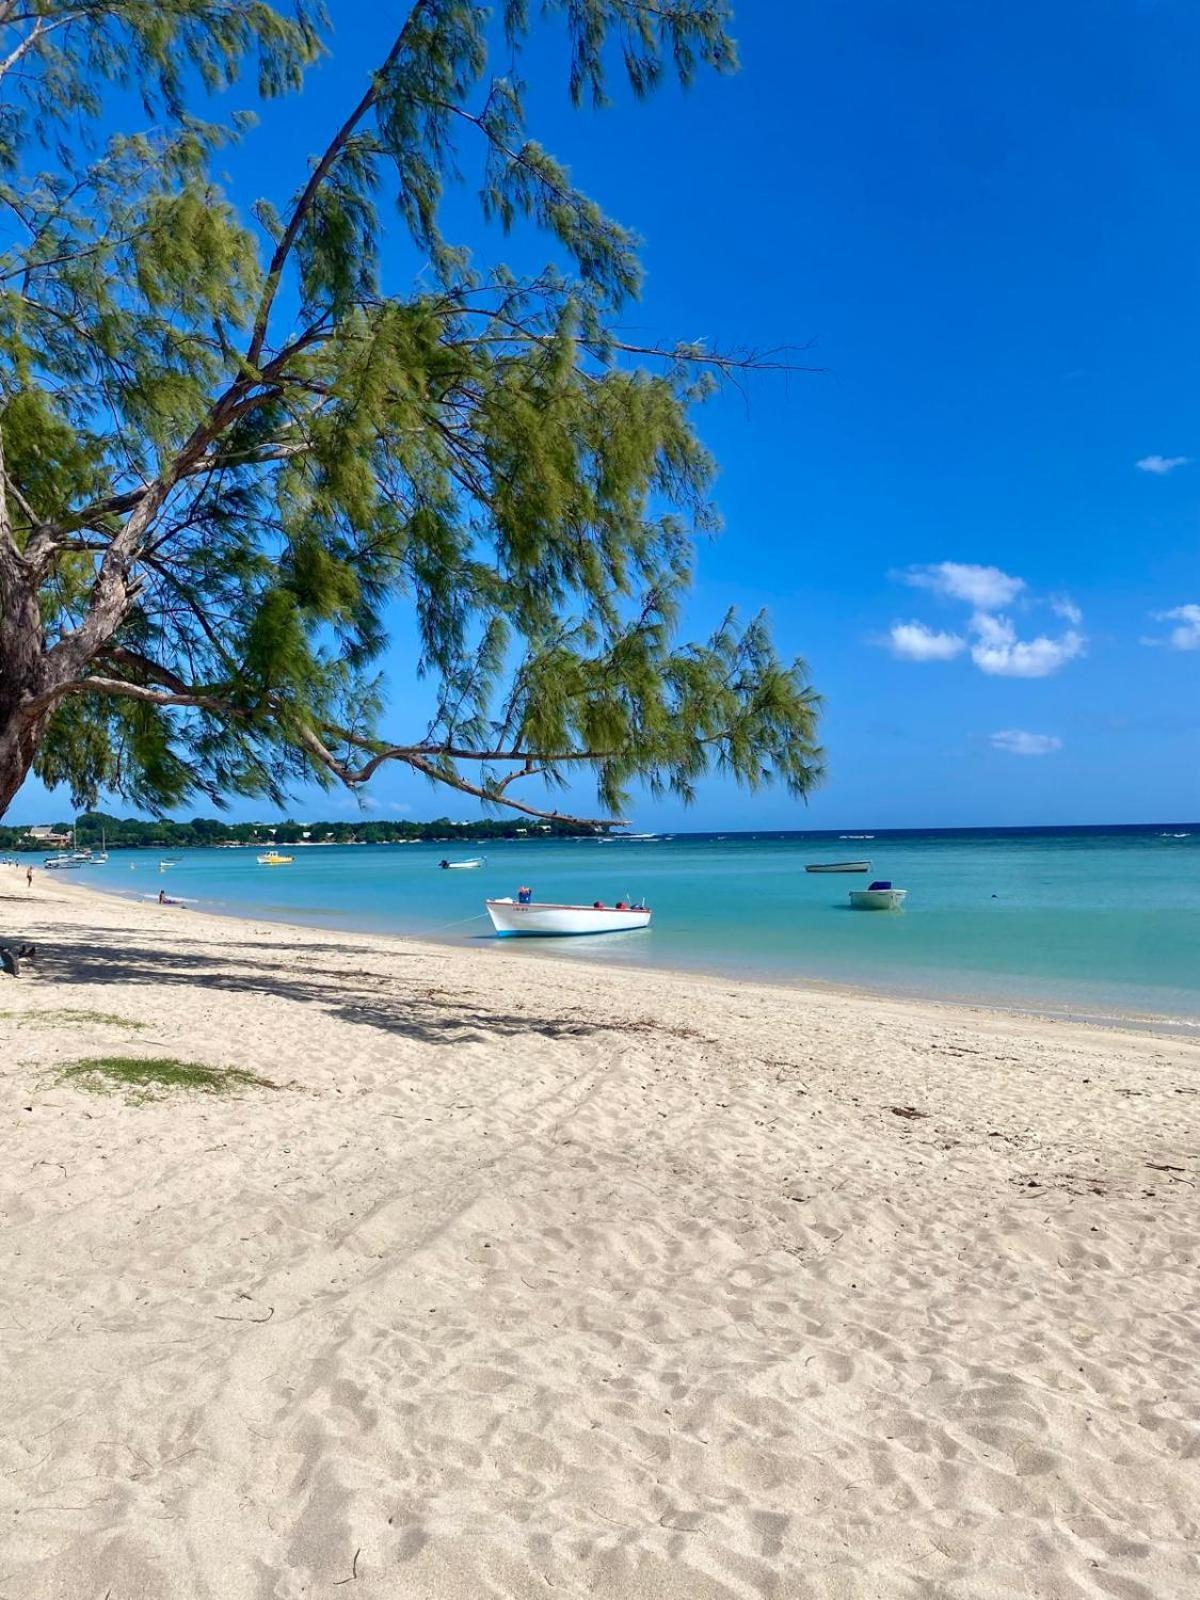
M 386 48 L 397 6 L 333 10 L 360 21 L 267 107 L 242 198 L 286 195 Z M 824 368 L 702 410 L 726 530 L 688 630 L 770 608 L 826 698 L 829 778 L 806 808 L 714 779 L 637 822 L 1200 816 L 1200 11 L 747 0 L 736 34 L 736 78 L 602 114 L 570 109 L 557 42 L 526 64 L 531 131 L 645 240 L 630 334 Z M 397 618 L 397 734 L 406 645 Z M 400 770 L 371 805 L 474 814 Z M 30 784 L 11 814 L 64 810 Z

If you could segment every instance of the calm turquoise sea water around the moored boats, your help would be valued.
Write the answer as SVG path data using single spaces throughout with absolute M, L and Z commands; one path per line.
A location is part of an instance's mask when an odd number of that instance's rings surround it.
M 496 958 L 515 946 L 554 960 L 1200 1018 L 1200 824 L 485 848 L 477 872 L 437 869 L 446 854 L 474 854 L 469 845 L 299 848 L 291 867 L 261 867 L 253 850 L 190 850 L 165 872 L 150 851 L 112 851 L 75 882 L 125 894 L 166 888 L 203 910 L 448 939 Z M 866 856 L 869 878 L 803 870 Z M 909 890 L 904 912 L 850 909 L 848 890 L 874 877 Z M 498 941 L 483 899 L 522 883 L 534 899 L 645 896 L 654 922 L 608 938 Z

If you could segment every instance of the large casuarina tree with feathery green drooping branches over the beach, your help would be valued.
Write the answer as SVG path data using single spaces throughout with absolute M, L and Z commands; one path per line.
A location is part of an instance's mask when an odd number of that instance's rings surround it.
M 725 0 L 410 0 L 352 104 L 309 80 L 291 192 L 240 206 L 254 125 L 202 112 L 304 93 L 326 27 L 0 0 L 0 814 L 30 771 L 162 808 L 386 762 L 534 816 L 579 773 L 605 816 L 710 770 L 803 795 L 802 664 L 762 618 L 677 635 L 715 525 L 691 406 L 730 362 L 618 336 L 635 242 L 520 82 L 533 29 L 576 101 L 730 70 Z M 544 270 L 446 237 L 459 181 Z M 419 726 L 379 675 L 400 605 Z

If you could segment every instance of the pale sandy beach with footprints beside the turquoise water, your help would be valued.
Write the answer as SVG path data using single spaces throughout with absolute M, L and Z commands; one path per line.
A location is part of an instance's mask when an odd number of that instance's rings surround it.
M 11 869 L 0 930 L 2 1600 L 1200 1592 L 1195 1042 Z

